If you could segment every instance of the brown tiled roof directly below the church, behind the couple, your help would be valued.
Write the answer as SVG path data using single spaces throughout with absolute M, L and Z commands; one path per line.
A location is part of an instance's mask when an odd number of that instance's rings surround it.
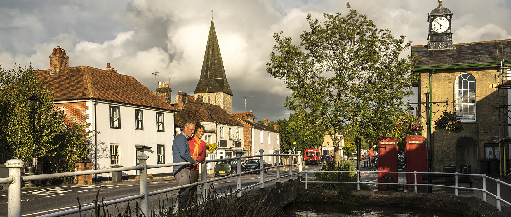
M 236 126 L 243 126 L 236 118 L 230 116 L 229 113 L 225 112 L 220 106 L 213 105 L 210 103 L 188 103 L 183 109 L 187 114 L 178 113 L 178 118 L 181 118 L 182 124 L 188 120 L 195 122 L 218 122 L 223 124 L 230 124 Z M 177 120 L 176 120 L 177 124 Z M 179 124 L 178 124 L 179 125 Z M 181 125 L 179 125 L 181 126 Z M 182 127 L 182 126 L 181 126 Z

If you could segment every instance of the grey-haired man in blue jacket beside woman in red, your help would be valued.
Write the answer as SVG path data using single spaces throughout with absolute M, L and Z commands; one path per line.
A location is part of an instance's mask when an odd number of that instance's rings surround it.
M 197 165 L 197 161 L 190 156 L 190 146 L 188 146 L 188 138 L 192 136 L 195 130 L 195 122 L 190 120 L 184 124 L 184 130 L 179 133 L 172 143 L 172 160 L 176 162 L 190 162 Z M 190 184 L 190 165 L 174 166 L 174 177 L 177 186 Z M 179 189 L 179 207 L 184 209 L 188 202 L 190 188 L 185 187 Z

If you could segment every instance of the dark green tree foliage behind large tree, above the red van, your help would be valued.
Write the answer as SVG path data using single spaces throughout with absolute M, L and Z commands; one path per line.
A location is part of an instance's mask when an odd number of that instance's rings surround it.
M 289 150 L 301 151 L 305 154 L 306 149 L 318 149 L 323 143 L 324 133 L 315 131 L 311 133 L 312 128 L 300 125 L 300 117 L 296 114 L 289 116 L 287 120 L 278 120 L 278 131 L 280 134 L 281 153 L 288 153 Z M 296 144 L 293 144 L 296 143 Z M 298 152 L 296 152 L 298 153 Z

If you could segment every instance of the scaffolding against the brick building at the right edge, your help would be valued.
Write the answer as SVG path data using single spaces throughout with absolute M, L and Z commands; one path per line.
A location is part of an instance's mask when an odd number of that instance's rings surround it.
M 509 167 L 509 160 L 506 160 L 506 152 L 509 151 L 509 144 L 511 144 L 511 138 L 509 137 L 509 126 L 511 126 L 511 98 L 508 99 L 511 94 L 511 64 L 505 62 L 504 59 L 504 45 L 502 50 L 499 52 L 497 49 L 497 74 L 495 75 L 495 88 L 498 96 L 498 105 L 494 106 L 497 110 L 498 125 L 499 127 L 499 138 L 495 140 L 495 143 L 499 144 L 499 175 L 500 177 L 507 178 L 511 174 Z M 496 151 L 495 151 L 496 152 Z M 486 154 L 486 147 L 485 147 Z

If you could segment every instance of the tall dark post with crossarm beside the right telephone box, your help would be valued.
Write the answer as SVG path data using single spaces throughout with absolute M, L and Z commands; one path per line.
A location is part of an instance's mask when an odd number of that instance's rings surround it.
M 427 129 L 427 133 L 426 133 L 426 146 L 427 146 L 427 149 L 428 149 L 428 172 L 433 172 L 433 166 L 431 164 L 431 116 L 430 116 L 430 113 L 431 113 L 431 105 L 432 104 L 436 104 L 438 105 L 438 103 L 446 103 L 447 105 L 449 105 L 449 100 L 447 101 L 444 101 L 444 102 L 430 102 L 429 101 L 429 97 L 430 97 L 430 93 L 428 92 L 428 87 L 426 86 L 426 102 L 408 102 L 408 106 L 411 107 L 410 105 L 412 104 L 419 104 L 419 105 L 426 105 L 426 127 L 428 128 Z M 409 109 L 409 108 L 408 108 Z M 412 108 L 413 109 L 413 108 Z M 438 109 L 439 109 L 439 106 L 438 106 Z M 410 110 L 408 110 L 409 114 L 410 114 Z M 438 112 L 438 110 L 436 111 Z M 434 113 L 436 113 L 434 112 Z M 413 111 L 411 111 L 411 113 L 413 113 Z M 423 113 L 423 112 L 421 112 Z M 428 173 L 428 193 L 432 193 L 433 190 L 431 189 L 431 174 Z

